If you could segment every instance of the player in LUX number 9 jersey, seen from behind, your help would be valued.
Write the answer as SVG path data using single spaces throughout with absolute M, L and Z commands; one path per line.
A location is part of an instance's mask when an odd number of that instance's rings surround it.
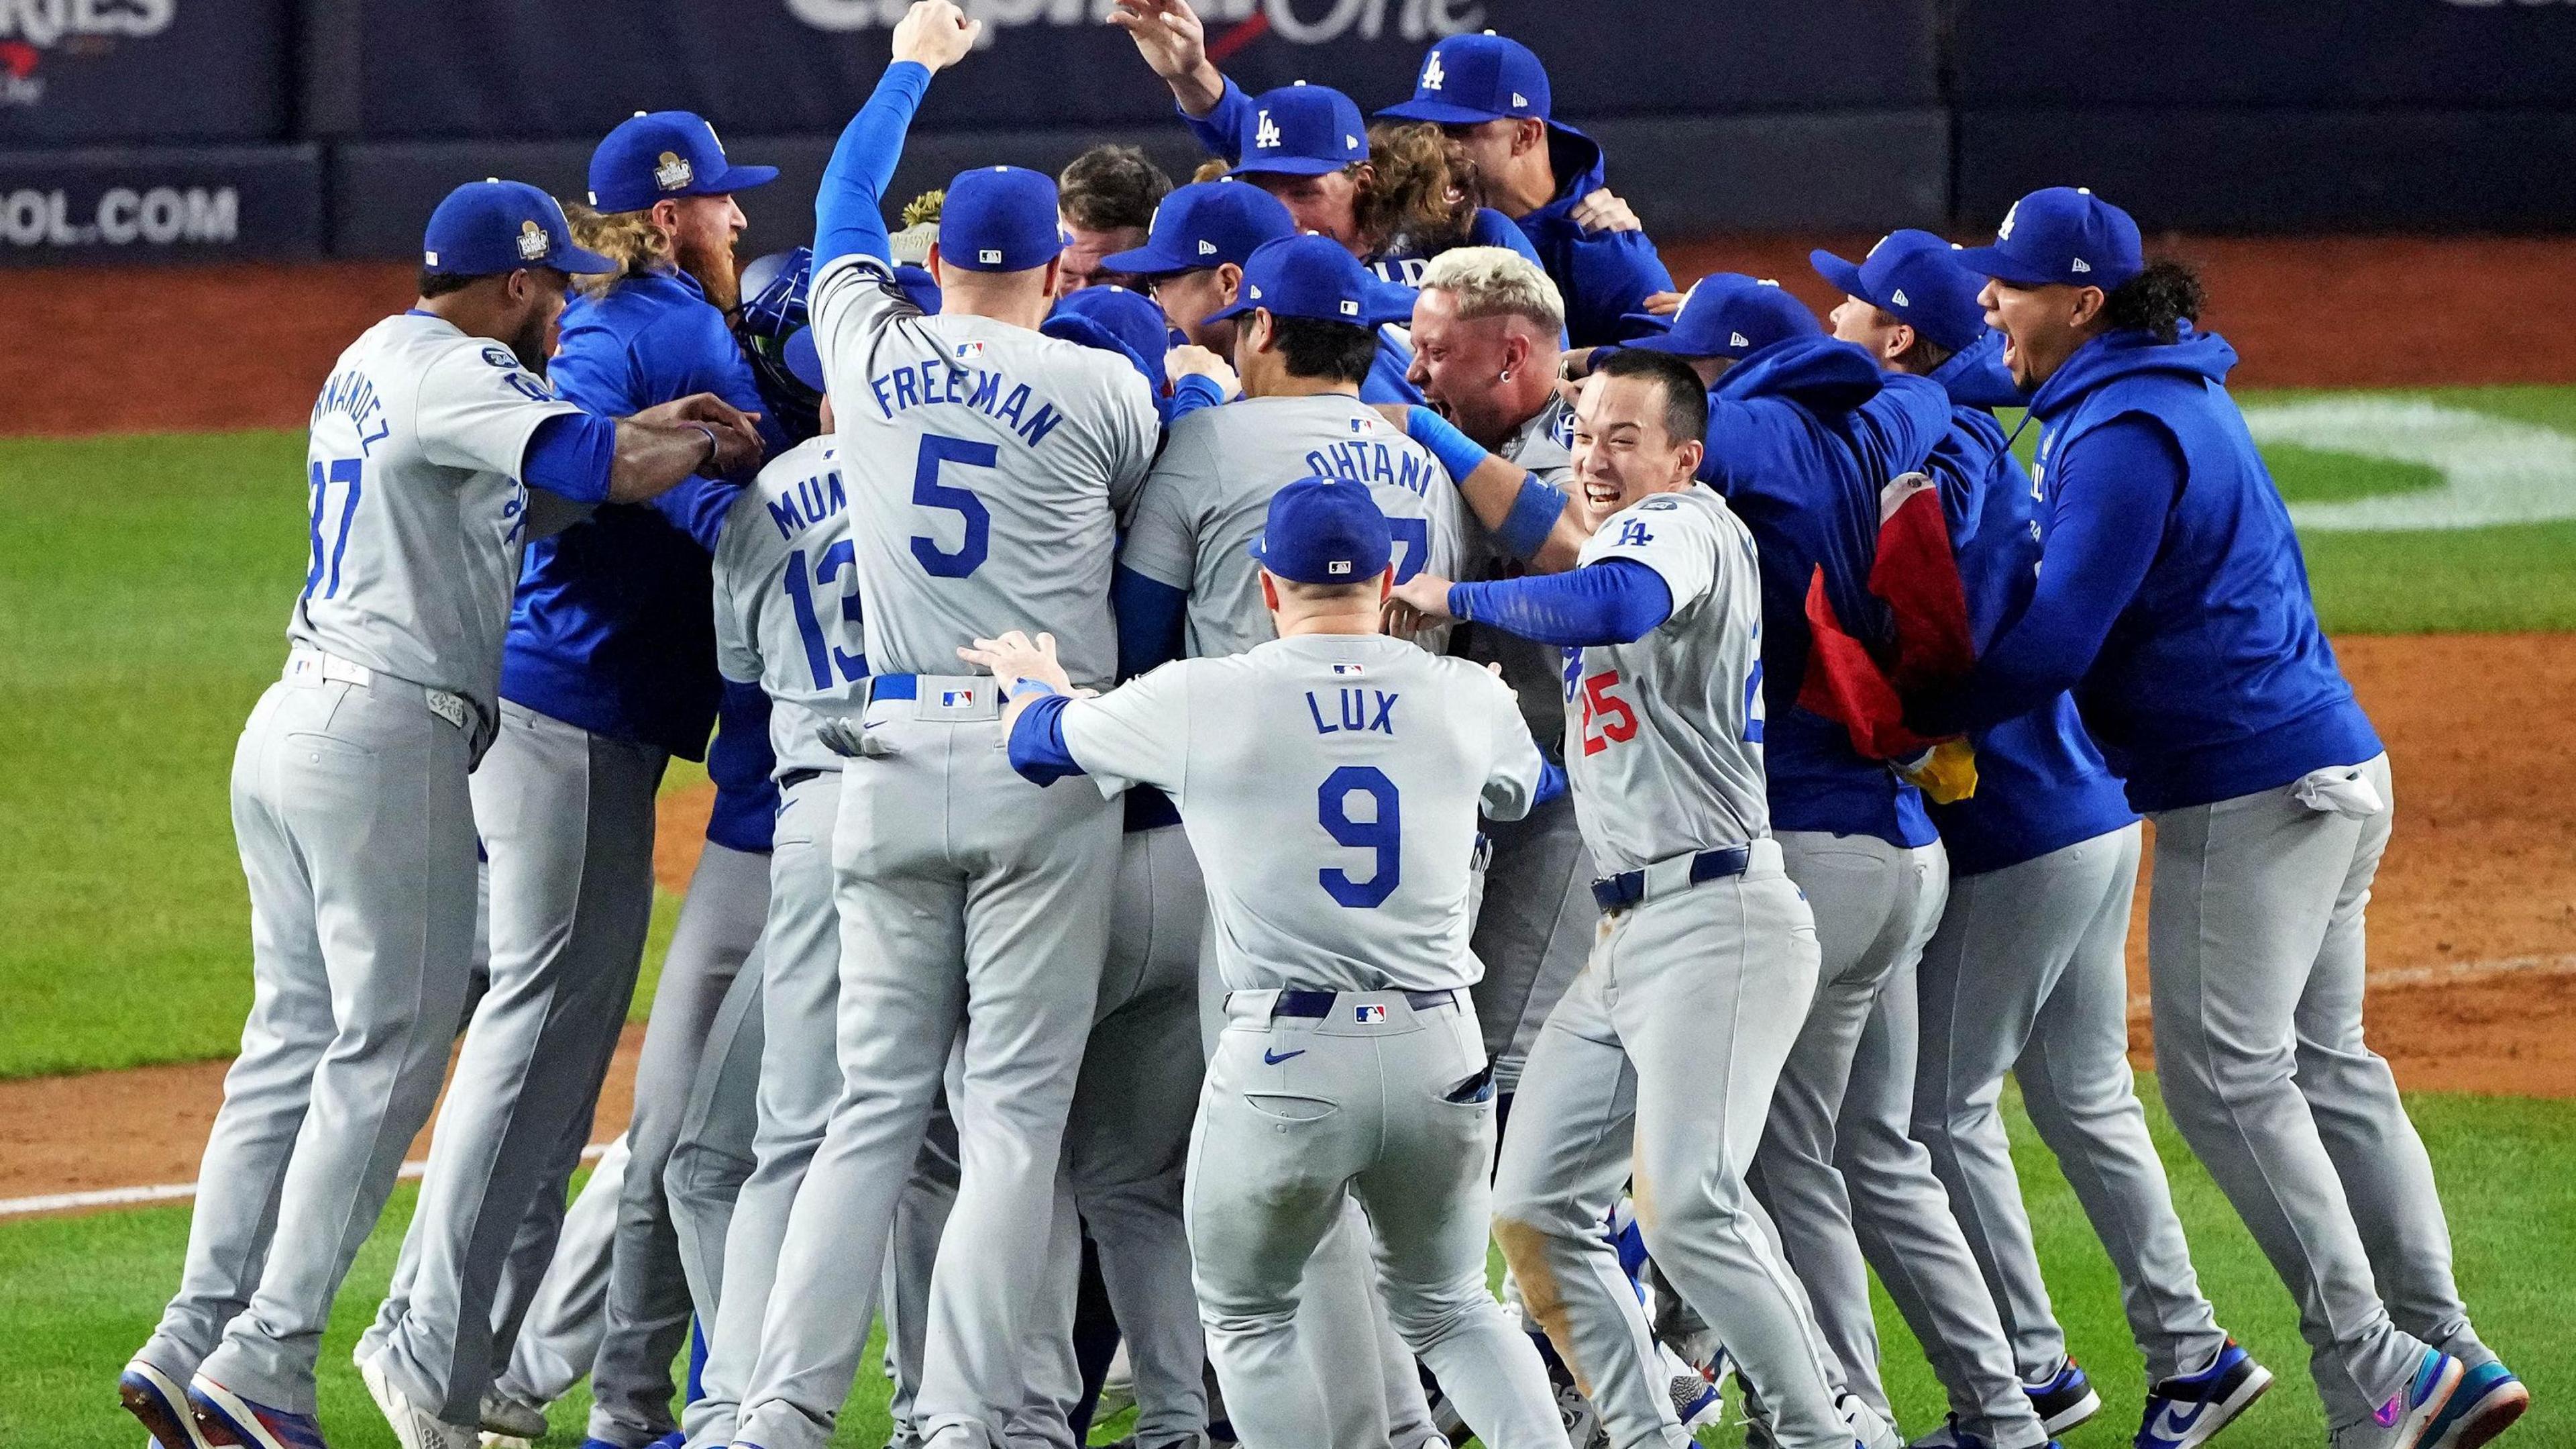
M 1466 995 L 1476 810 L 1525 812 L 1548 768 L 1499 681 L 1378 637 L 1391 552 L 1363 485 L 1309 477 L 1270 500 L 1257 552 L 1278 639 L 1084 701 L 1046 634 L 961 652 L 1012 691 L 1020 773 L 1159 786 L 1206 866 L 1229 990 L 1190 1250 L 1244 1444 L 1332 1421 L 1298 1279 L 1355 1196 L 1396 1328 L 1466 1421 L 1497 1449 L 1556 1446 L 1538 1354 L 1484 1287 L 1494 1088 Z

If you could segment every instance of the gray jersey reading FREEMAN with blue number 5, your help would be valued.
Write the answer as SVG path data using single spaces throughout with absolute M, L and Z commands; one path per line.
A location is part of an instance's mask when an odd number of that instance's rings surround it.
M 1162 423 L 1126 358 L 987 317 L 925 317 L 876 258 L 814 278 L 866 652 L 961 673 L 958 647 L 1046 629 L 1082 683 L 1118 673 L 1118 513 Z

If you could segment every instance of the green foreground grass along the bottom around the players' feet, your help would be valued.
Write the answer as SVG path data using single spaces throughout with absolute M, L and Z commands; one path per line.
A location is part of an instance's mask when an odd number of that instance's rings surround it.
M 2226 1444 L 2318 1444 L 2324 1421 L 2306 1382 L 2306 1348 L 2290 1297 L 2164 1122 L 2154 1083 L 2141 1080 L 2141 1093 L 2174 1178 L 2174 1201 L 2192 1232 L 2200 1287 L 2218 1305 L 2226 1328 L 2280 1374 L 2272 1395 L 2228 1431 Z M 2416 1096 L 2411 1109 L 2442 1181 L 2450 1183 L 2460 1289 L 2476 1305 L 2486 1341 L 2532 1385 L 2535 1408 L 2506 1444 L 2566 1446 L 2576 1441 L 2576 1415 L 2566 1408 L 2576 1395 L 2576 1323 L 2563 1307 L 2566 1263 L 2576 1263 L 2576 1114 L 2550 1101 L 2470 1096 Z M 2120 1318 L 2120 1287 L 2048 1150 L 2020 1116 L 2017 1098 L 2012 1114 L 2048 1287 L 2069 1343 L 2105 1403 L 2099 1418 L 2066 1436 L 2066 1449 L 2115 1449 L 2136 1434 L 2143 1392 L 2138 1351 Z M 366 1400 L 348 1351 L 384 1297 L 410 1209 L 412 1189 L 404 1186 L 348 1276 L 340 1312 L 322 1341 L 322 1426 L 335 1449 L 394 1444 Z M 134 1423 L 116 1408 L 116 1369 L 152 1330 L 185 1238 L 185 1207 L 0 1225 L 0 1323 L 13 1330 L 13 1348 L 0 1356 L 0 1444 L 134 1446 Z M 1906 1428 L 1922 1434 L 1940 1423 L 1940 1390 L 1883 1297 L 1878 1320 L 1888 1395 Z M 837 1446 L 876 1449 L 886 1441 L 886 1385 L 876 1361 L 873 1351 L 863 1359 Z M 587 1408 L 587 1392 L 580 1390 L 554 1408 L 562 1444 L 580 1441 Z M 1123 1423 L 1108 1423 L 1095 1441 L 1110 1441 L 1121 1431 Z M 1703 1436 L 1705 1444 L 1739 1439 L 1734 1426 Z

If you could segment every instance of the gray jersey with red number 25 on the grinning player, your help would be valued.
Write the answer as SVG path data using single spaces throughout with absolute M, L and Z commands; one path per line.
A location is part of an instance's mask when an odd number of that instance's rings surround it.
M 1672 616 L 1566 670 L 1566 776 L 1602 874 L 1770 835 L 1762 797 L 1762 575 L 1754 539 L 1705 485 L 1605 521 L 1582 565 L 1636 559 Z M 1569 650 L 1571 652 L 1571 650 Z

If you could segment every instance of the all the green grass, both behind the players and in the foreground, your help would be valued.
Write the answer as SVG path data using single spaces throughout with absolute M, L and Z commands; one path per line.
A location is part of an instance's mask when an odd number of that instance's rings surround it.
M 2434 389 L 2385 397 L 2393 423 L 2298 431 L 2318 394 L 2246 397 L 2295 508 L 2460 498 L 2517 523 L 2354 531 L 2303 523 L 2334 632 L 2576 629 L 2576 389 Z M 2354 394 L 2331 394 L 2349 402 Z M 2432 405 L 2439 418 L 2406 418 Z M 2262 423 L 2267 410 L 2280 410 Z M 2401 425 L 2403 423 L 2403 425 Z M 2318 431 L 2324 428 L 2324 436 Z M 2406 428 L 2414 428 L 2409 433 Z M 2427 431 L 2429 428 L 2429 431 Z M 2424 443 L 2434 438 L 2434 443 Z M 2025 446 L 2030 438 L 2025 436 Z M 0 441 L 0 1078 L 227 1057 L 250 1003 L 247 902 L 227 820 L 232 740 L 276 678 L 286 603 L 304 567 L 299 433 Z M 2432 449 L 2432 451 L 2427 451 Z M 2442 449 L 2455 449 L 2445 454 Z M 2566 454 L 2566 456 L 2561 456 Z M 2566 464 L 2566 467 L 2563 467 Z M 2478 490 L 2486 490 L 2483 495 Z M 2324 518 L 2324 516 L 2316 516 Z M 675 766 L 670 786 L 703 779 Z M 647 982 L 675 900 L 657 902 Z M 2452 1204 L 2460 1276 L 2481 1328 L 2540 1397 L 2512 1444 L 2576 1444 L 2576 1114 L 2563 1104 L 2424 1096 L 2416 1122 Z M 2017 1124 L 2020 1127 L 2020 1124 Z M 2318 1439 L 2290 1302 L 2159 1114 L 2202 1287 L 2280 1374 L 2233 1444 Z M 2138 1359 L 2117 1289 L 2063 1181 L 2022 1129 L 2025 1178 L 2076 1354 L 2112 1405 L 2071 1446 L 2125 1441 Z M 348 1369 L 381 1297 L 410 1189 L 350 1276 L 325 1343 L 335 1444 L 392 1444 Z M 0 1444 L 134 1441 L 113 1372 L 178 1274 L 185 1207 L 0 1225 Z M 1886 1315 L 1888 1379 L 1909 1428 L 1937 1392 Z M 881 1441 L 873 1374 L 840 1444 Z M 556 1428 L 577 1439 L 580 1403 Z

